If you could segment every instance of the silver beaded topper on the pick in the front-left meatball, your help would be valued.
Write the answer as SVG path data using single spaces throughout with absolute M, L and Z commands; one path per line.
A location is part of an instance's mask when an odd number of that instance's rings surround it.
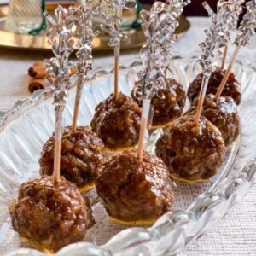
M 55 15 L 51 16 L 44 12 L 44 16 L 49 21 L 49 30 L 46 36 L 55 55 L 54 58 L 44 60 L 47 70 L 46 80 L 50 84 L 53 92 L 55 106 L 64 107 L 67 103 L 67 90 L 70 85 L 70 68 L 73 63 L 68 61 L 74 50 L 73 22 L 70 19 L 71 9 L 59 6 L 55 9 Z

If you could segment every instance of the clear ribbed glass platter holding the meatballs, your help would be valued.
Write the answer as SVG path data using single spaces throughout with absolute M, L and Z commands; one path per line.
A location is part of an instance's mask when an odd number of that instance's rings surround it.
M 140 68 L 139 62 L 120 68 L 120 90 L 125 94 L 130 93 L 134 73 Z M 173 60 L 172 70 L 185 88 L 199 72 L 193 58 Z M 256 67 L 240 58 L 234 71 L 241 81 L 243 93 L 239 107 L 241 136 L 226 154 L 218 175 L 208 183 L 176 183 L 176 187 L 173 186 L 176 195 L 173 211 L 148 228 L 127 229 L 110 223 L 92 190 L 88 195 L 93 203 L 96 225 L 88 230 L 84 242 L 64 247 L 56 255 L 172 255 L 201 236 L 247 194 L 256 181 Z M 112 90 L 111 69 L 91 73 L 84 84 L 79 125 L 90 124 L 96 104 Z M 65 125 L 71 124 L 73 101 L 74 89 L 71 89 Z M 10 224 L 9 204 L 17 196 L 20 183 L 38 176 L 39 154 L 54 131 L 55 113 L 51 102 L 49 92 L 39 90 L 30 98 L 16 102 L 9 112 L 0 113 L 0 255 L 44 255 L 21 245 Z M 146 148 L 149 151 L 154 152 L 153 144 L 159 135 L 160 131 L 157 131 L 148 137 Z

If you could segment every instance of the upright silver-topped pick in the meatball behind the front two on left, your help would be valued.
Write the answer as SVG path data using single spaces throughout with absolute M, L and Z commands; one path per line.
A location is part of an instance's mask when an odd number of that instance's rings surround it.
M 124 34 L 121 33 L 122 14 L 123 9 L 133 9 L 136 6 L 136 0 L 107 0 L 100 5 L 101 14 L 105 21 L 101 27 L 104 32 L 108 32 L 111 36 L 109 45 L 114 48 L 114 96 L 117 97 L 119 93 L 120 42 L 125 38 Z

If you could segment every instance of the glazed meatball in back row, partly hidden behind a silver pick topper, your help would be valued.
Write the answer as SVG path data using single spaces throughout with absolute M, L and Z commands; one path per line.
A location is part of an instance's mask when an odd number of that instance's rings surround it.
M 141 86 L 140 83 L 131 91 L 131 97 L 142 107 L 142 98 L 139 99 L 136 96 L 136 90 L 139 86 Z M 168 89 L 158 90 L 151 100 L 151 104 L 154 106 L 152 128 L 166 126 L 183 113 L 186 102 L 186 94 L 183 86 L 177 83 L 176 80 L 170 79 L 167 87 Z

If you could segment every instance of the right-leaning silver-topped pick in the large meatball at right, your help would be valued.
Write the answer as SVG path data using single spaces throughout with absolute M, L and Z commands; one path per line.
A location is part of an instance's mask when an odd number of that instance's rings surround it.
M 221 54 L 219 49 L 223 48 L 230 41 L 231 28 L 234 26 L 234 19 L 237 15 L 237 10 L 226 1 L 218 2 L 217 14 L 212 12 L 207 2 L 203 3 L 205 9 L 212 16 L 212 26 L 205 30 L 207 35 L 206 41 L 200 44 L 202 51 L 200 64 L 203 69 L 203 79 L 199 101 L 195 113 L 195 123 L 197 124 L 203 106 L 203 101 L 207 92 L 207 85 L 212 73 L 212 63 L 215 55 Z

